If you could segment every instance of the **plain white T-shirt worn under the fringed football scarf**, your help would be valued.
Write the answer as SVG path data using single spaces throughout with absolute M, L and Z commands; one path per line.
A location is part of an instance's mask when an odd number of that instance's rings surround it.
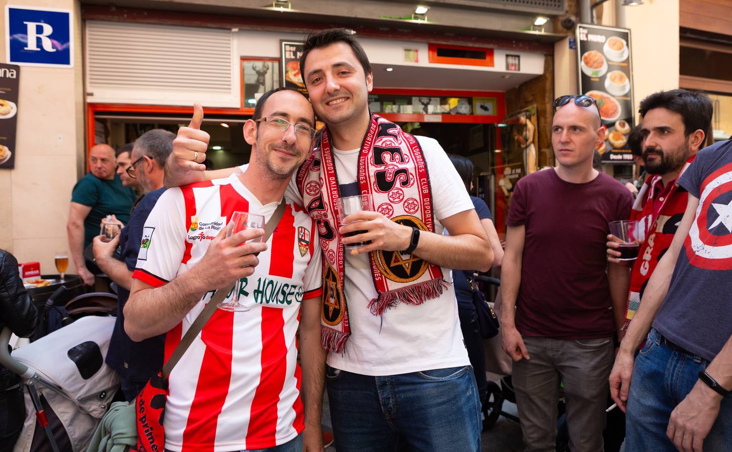
M 435 232 L 442 234 L 444 226 L 439 219 L 471 210 L 473 202 L 439 143 L 427 137 L 417 140 L 427 161 Z M 338 183 L 354 183 L 359 150 L 333 151 Z M 291 183 L 288 194 L 293 191 L 297 191 L 296 185 Z M 328 354 L 329 366 L 361 375 L 397 375 L 470 364 L 450 269 L 442 267 L 444 280 L 451 284 L 439 298 L 419 305 L 400 303 L 381 316 L 373 315 L 367 307 L 377 296 L 368 256 L 346 253 L 345 274 L 351 337 L 343 355 Z

